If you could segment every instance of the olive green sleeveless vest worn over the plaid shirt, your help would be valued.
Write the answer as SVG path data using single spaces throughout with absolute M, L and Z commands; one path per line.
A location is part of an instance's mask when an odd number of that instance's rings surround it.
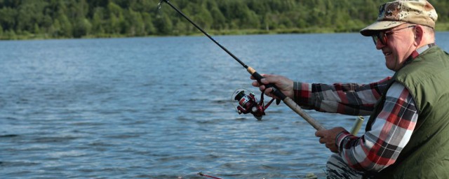
M 391 84 L 404 85 L 418 110 L 415 130 L 394 164 L 375 178 L 449 178 L 449 55 L 434 46 L 397 71 Z M 389 88 L 389 87 L 388 87 Z M 382 110 L 375 106 L 366 130 Z

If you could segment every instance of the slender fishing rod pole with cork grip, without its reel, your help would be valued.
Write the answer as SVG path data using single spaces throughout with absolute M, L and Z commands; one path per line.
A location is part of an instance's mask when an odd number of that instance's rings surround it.
M 229 50 L 227 50 L 223 45 L 221 45 L 220 43 L 218 43 L 217 41 L 215 41 L 214 38 L 212 38 L 212 36 L 210 36 L 206 31 L 204 31 L 203 29 L 201 29 L 201 27 L 199 27 L 195 22 L 193 22 L 189 17 L 187 17 L 187 15 L 185 15 L 184 13 L 181 12 L 181 10 L 177 9 L 175 6 L 173 6 L 172 3 L 170 3 L 170 1 L 168 0 L 160 0 L 159 4 L 158 4 L 158 8 L 161 8 L 161 3 L 165 2 L 167 3 L 171 8 L 173 8 L 174 10 L 176 10 L 177 13 L 179 13 L 180 15 L 182 15 L 182 17 L 184 17 L 187 21 L 189 21 L 191 24 L 194 25 L 194 27 L 196 27 L 196 29 L 199 29 L 199 31 L 201 31 L 204 35 L 206 35 L 211 41 L 213 41 L 216 45 L 218 45 L 220 48 L 222 48 L 222 50 L 225 50 L 225 52 L 227 52 L 228 55 L 230 55 L 232 58 L 234 58 L 237 62 L 239 62 L 239 64 L 241 64 L 243 66 L 243 68 L 246 69 L 246 71 L 248 71 L 248 73 L 251 74 L 251 76 L 253 76 L 260 84 L 262 84 L 260 82 L 260 80 L 262 78 L 264 78 L 263 76 L 261 76 L 259 73 L 257 73 L 257 71 L 255 71 L 255 69 L 251 68 L 250 66 L 247 66 L 246 64 L 244 64 L 243 62 L 241 62 L 241 60 L 239 58 L 237 58 L 234 54 L 232 54 L 232 52 L 229 52 Z M 277 96 L 279 99 L 281 99 L 284 103 L 286 103 L 286 105 L 288 107 L 290 107 L 293 111 L 295 111 L 295 113 L 297 113 L 298 115 L 300 115 L 302 118 L 304 118 L 304 120 L 306 120 L 307 122 L 309 122 L 309 124 L 311 124 L 312 127 L 314 127 L 316 130 L 323 130 L 326 129 L 323 127 L 323 125 L 321 125 L 319 122 L 317 122 L 314 118 L 312 118 L 309 114 L 305 113 L 302 108 L 300 106 L 297 105 L 297 103 L 295 103 L 295 101 L 293 101 L 292 99 L 290 99 L 288 96 L 286 96 L 285 94 L 283 94 L 280 90 L 277 89 L 276 85 L 269 83 L 268 85 L 265 85 L 265 87 L 268 88 L 272 88 L 272 93 Z M 262 93 L 263 95 L 263 93 Z M 276 103 L 279 104 L 280 101 L 276 100 Z M 263 112 L 263 111 L 262 111 Z

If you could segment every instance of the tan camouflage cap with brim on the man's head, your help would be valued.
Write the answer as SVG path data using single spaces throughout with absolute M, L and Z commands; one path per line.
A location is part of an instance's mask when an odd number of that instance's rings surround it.
M 360 33 L 363 36 L 372 36 L 377 31 L 391 29 L 405 23 L 434 28 L 437 18 L 434 6 L 426 0 L 391 1 L 380 6 L 376 22 L 361 29 Z

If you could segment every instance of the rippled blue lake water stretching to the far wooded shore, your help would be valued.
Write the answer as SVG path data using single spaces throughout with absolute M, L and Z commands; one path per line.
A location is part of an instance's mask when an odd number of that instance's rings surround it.
M 448 51 L 449 32 L 436 36 Z M 260 73 L 307 83 L 393 74 L 360 34 L 215 39 Z M 205 36 L 0 41 L 0 54 L 0 178 L 324 176 L 331 152 L 285 104 L 260 121 L 236 113 L 234 90 L 260 91 Z M 306 111 L 326 128 L 356 119 Z

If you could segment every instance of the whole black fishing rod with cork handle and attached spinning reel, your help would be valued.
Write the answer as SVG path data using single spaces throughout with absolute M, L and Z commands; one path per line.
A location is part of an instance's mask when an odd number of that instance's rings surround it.
M 229 50 L 227 50 L 223 45 L 221 45 L 220 43 L 218 43 L 217 41 L 215 41 L 214 38 L 212 38 L 212 36 L 210 36 L 206 31 L 204 31 L 203 29 L 201 29 L 201 27 L 199 27 L 195 22 L 193 22 L 192 20 L 190 20 L 189 17 L 187 17 L 187 15 L 185 15 L 184 13 L 181 12 L 181 10 L 177 9 L 175 6 L 173 6 L 172 3 L 170 3 L 170 1 L 168 0 L 160 0 L 159 4 L 158 4 L 158 8 L 161 8 L 161 3 L 165 2 L 167 3 L 171 8 L 173 8 L 174 10 L 176 10 L 177 13 L 179 13 L 180 15 L 182 15 L 182 17 L 185 17 L 185 19 L 187 21 L 189 21 L 191 24 L 194 25 L 194 27 L 196 27 L 196 29 L 199 29 L 199 31 L 201 31 L 204 35 L 206 35 L 211 41 L 213 41 L 215 44 L 217 44 L 220 48 L 222 48 L 222 50 L 225 50 L 225 52 L 227 52 L 228 55 L 230 55 L 232 58 L 234 58 L 237 62 L 239 62 L 239 64 L 241 64 L 241 66 L 243 66 L 243 68 L 246 69 L 246 71 L 248 71 L 248 73 L 251 74 L 251 76 L 253 76 L 257 82 L 259 82 L 260 84 L 262 84 L 260 82 L 260 80 L 262 78 L 264 78 L 263 76 L 260 75 L 260 73 L 257 73 L 257 71 L 255 71 L 255 69 L 253 69 L 252 67 L 246 65 L 245 63 L 243 63 L 239 58 L 237 58 L 234 54 L 232 54 L 232 52 L 229 52 Z M 305 113 L 304 110 L 302 110 L 302 108 L 300 106 L 297 105 L 297 103 L 295 103 L 295 101 L 293 101 L 292 99 L 290 99 L 288 96 L 286 96 L 285 94 L 283 94 L 280 90 L 277 89 L 276 85 L 269 83 L 268 85 L 265 85 L 266 89 L 268 88 L 272 88 L 272 93 L 277 96 L 279 99 L 281 99 L 284 103 L 286 103 L 286 105 L 288 107 L 290 107 L 293 111 L 295 111 L 295 113 L 297 113 L 298 115 L 300 115 L 302 118 L 304 118 L 304 120 L 306 120 L 307 122 L 309 122 L 309 124 L 311 124 L 312 127 L 314 127 L 316 130 L 324 130 L 326 128 L 323 127 L 323 125 L 321 125 L 319 122 L 317 122 L 313 117 L 311 117 L 309 114 Z M 237 95 L 236 96 L 236 100 L 239 101 L 240 104 L 244 104 L 243 107 L 248 107 L 248 110 L 244 110 L 244 111 L 239 111 L 239 113 L 251 113 L 252 111 L 250 110 L 251 107 L 255 106 L 256 111 L 255 113 L 253 113 L 253 115 L 255 115 L 255 117 L 257 118 L 257 115 L 264 115 L 263 110 L 266 109 L 262 106 L 257 106 L 257 101 L 253 102 L 256 104 L 251 103 L 251 105 L 247 105 L 248 101 L 252 101 L 252 97 L 248 97 L 246 98 L 246 96 L 249 95 L 245 95 L 244 93 L 239 93 L 241 95 Z M 262 92 L 262 96 L 263 96 L 263 92 Z M 262 98 L 262 97 L 261 97 Z M 279 104 L 280 101 L 276 101 L 276 103 Z M 261 101 L 261 103 L 263 103 L 263 100 Z M 271 101 L 270 101 L 271 103 Z M 260 108 L 262 107 L 262 111 L 260 113 Z

